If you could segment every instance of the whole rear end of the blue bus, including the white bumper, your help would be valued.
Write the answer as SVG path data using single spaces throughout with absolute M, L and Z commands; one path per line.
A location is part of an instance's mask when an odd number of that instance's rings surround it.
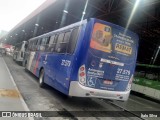
M 90 31 L 87 54 L 78 68 L 78 81 L 70 83 L 69 95 L 126 101 L 135 70 L 138 36 L 95 19 Z

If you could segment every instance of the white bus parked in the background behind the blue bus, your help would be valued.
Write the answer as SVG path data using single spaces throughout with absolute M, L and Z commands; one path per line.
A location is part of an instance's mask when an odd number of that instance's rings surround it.
M 22 41 L 21 43 L 15 45 L 13 52 L 13 60 L 21 63 L 23 62 L 27 44 L 28 44 L 27 41 Z

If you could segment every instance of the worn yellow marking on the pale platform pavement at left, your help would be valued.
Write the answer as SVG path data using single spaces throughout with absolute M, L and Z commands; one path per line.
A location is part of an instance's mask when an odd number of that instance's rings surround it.
M 20 93 L 14 89 L 0 89 L 0 98 L 1 97 L 20 98 Z

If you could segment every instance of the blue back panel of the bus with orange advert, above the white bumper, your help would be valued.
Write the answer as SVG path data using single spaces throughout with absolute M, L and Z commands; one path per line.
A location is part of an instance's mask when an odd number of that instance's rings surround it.
M 95 23 L 85 63 L 79 69 L 79 82 L 87 87 L 125 91 L 133 78 L 137 38 L 123 34 L 113 24 Z M 86 81 L 81 71 L 86 70 Z

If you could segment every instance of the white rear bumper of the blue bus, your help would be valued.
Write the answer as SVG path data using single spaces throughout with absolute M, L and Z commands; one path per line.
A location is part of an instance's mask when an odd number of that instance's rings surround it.
M 105 98 L 105 99 L 113 99 L 113 100 L 128 100 L 130 94 L 130 90 L 119 92 L 119 91 L 108 91 L 108 90 L 100 90 L 82 86 L 78 81 L 71 81 L 69 96 L 77 96 L 77 97 L 96 97 L 96 98 Z

